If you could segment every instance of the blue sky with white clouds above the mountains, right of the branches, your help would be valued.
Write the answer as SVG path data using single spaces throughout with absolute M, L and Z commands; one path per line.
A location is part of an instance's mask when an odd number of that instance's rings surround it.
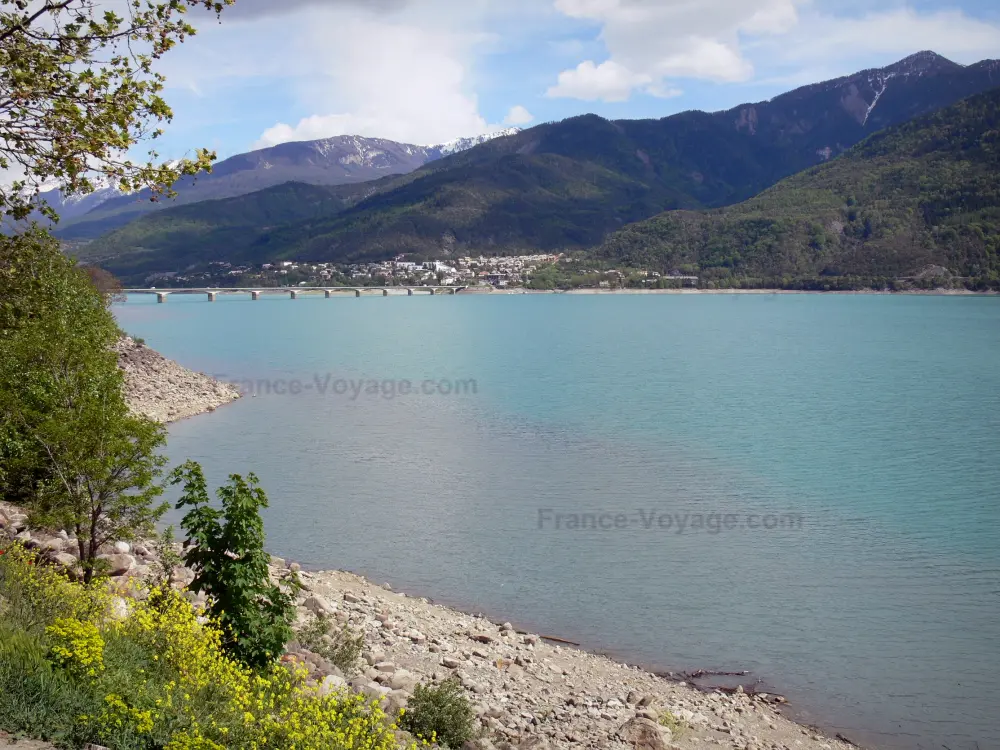
M 163 60 L 166 158 L 664 117 L 923 49 L 1000 58 L 995 0 L 237 0 L 221 23 L 194 20 L 199 34 Z

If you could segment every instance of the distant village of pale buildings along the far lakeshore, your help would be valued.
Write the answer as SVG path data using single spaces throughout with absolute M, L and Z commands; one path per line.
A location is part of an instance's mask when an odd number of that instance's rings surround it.
M 209 263 L 200 271 L 166 274 L 156 279 L 166 286 L 491 286 L 497 289 L 551 287 L 555 280 L 576 280 L 573 286 L 615 288 L 661 285 L 665 279 L 697 282 L 694 276 L 661 276 L 657 272 L 580 267 L 563 254 L 479 256 L 440 260 L 407 260 L 397 255 L 378 263 L 310 263 L 277 261 L 262 265 Z

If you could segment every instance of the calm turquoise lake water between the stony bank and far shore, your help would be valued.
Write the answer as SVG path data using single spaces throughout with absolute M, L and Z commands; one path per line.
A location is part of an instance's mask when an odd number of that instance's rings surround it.
M 117 312 L 189 367 L 301 382 L 170 430 L 212 480 L 258 474 L 276 554 L 654 668 L 749 669 L 861 744 L 1000 747 L 1000 299 Z M 355 398 L 340 379 L 466 392 Z M 566 528 L 602 511 L 620 528 Z

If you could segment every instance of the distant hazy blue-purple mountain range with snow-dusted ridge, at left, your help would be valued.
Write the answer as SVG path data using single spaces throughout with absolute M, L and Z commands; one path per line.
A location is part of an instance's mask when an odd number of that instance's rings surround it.
M 122 195 L 104 186 L 83 196 L 64 196 L 58 186 L 53 186 L 41 197 L 60 214 L 59 236 L 82 239 L 164 208 L 236 197 L 285 182 L 347 185 L 406 174 L 428 162 L 517 132 L 518 128 L 507 128 L 437 146 L 414 146 L 356 135 L 282 143 L 225 159 L 210 173 L 197 178 L 183 178 L 174 185 L 177 197 L 171 201 L 154 203 L 149 200 L 148 191 Z

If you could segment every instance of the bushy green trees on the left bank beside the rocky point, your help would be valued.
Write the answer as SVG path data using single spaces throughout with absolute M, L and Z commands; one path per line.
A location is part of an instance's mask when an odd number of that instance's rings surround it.
M 0 238 L 0 490 L 101 548 L 153 531 L 161 425 L 129 412 L 108 299 L 46 233 Z

